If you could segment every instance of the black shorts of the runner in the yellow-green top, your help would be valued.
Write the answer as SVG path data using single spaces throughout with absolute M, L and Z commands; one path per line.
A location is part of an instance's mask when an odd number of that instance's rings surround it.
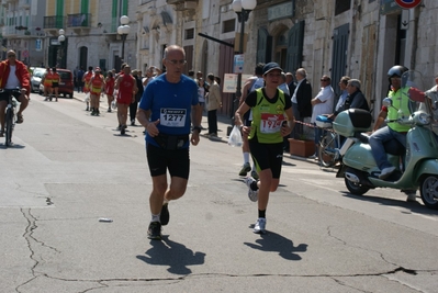
M 272 178 L 279 179 L 281 164 L 283 162 L 283 143 L 260 144 L 255 139 L 249 139 L 248 142 L 257 171 L 271 169 Z

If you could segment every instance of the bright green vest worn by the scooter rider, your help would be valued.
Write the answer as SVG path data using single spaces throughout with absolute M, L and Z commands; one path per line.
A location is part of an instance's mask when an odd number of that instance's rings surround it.
M 400 119 L 400 112 L 403 113 L 405 117 L 411 115 L 409 111 L 409 87 L 404 87 L 398 89 L 397 91 L 390 91 L 388 98 L 391 98 L 392 105 L 388 108 L 388 120 L 397 120 Z M 394 132 L 403 133 L 408 132 L 411 129 L 409 125 L 401 125 L 396 122 L 388 123 L 388 126 Z

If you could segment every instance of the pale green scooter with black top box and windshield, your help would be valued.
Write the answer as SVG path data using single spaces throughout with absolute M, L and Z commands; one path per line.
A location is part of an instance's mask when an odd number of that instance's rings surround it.
M 406 135 L 406 149 L 396 140 L 385 146 L 389 161 L 396 168 L 389 178 L 379 178 L 380 169 L 363 134 L 371 127 L 371 114 L 363 110 L 346 110 L 333 123 L 334 131 L 346 136 L 339 150 L 341 166 L 337 178 L 345 178 L 345 184 L 352 194 L 362 195 L 370 189 L 392 188 L 417 190 L 419 188 L 424 204 L 438 209 L 438 143 L 433 132 L 433 106 L 428 93 L 423 90 L 422 75 L 409 70 L 402 76 L 402 86 L 409 86 L 411 115 L 398 111 L 396 122 L 411 125 Z M 393 106 L 392 100 L 383 100 L 385 106 Z M 436 120 L 438 117 L 435 117 Z M 395 144 L 394 144 L 395 143 Z M 400 146 L 397 146 L 400 145 Z

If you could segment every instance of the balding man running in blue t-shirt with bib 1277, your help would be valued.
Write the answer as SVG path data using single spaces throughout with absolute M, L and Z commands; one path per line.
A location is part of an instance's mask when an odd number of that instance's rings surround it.
M 184 194 L 190 172 L 189 145 L 195 146 L 200 140 L 198 84 L 182 75 L 186 63 L 182 47 L 168 46 L 162 59 L 166 74 L 148 82 L 138 106 L 137 120 L 146 128 L 146 156 L 153 179 L 149 239 L 161 239 L 161 225 L 169 223 L 169 201 Z M 194 127 L 189 140 L 191 123 Z

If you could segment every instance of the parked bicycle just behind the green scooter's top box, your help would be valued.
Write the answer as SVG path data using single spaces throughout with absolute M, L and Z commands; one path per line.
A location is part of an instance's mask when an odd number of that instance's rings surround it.
M 333 132 L 333 121 L 326 116 L 319 115 L 316 117 L 316 126 L 323 128 L 323 135 L 319 140 L 318 158 L 322 167 L 335 166 L 340 156 L 340 136 Z

